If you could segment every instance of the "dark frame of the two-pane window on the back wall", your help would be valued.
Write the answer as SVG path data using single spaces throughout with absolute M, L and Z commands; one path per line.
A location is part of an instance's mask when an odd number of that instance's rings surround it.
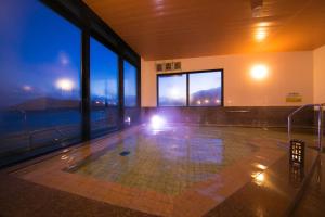
M 194 106 L 190 104 L 190 75 L 191 74 L 200 74 L 200 73 L 213 73 L 213 72 L 220 72 L 221 73 L 221 103 L 220 105 L 202 105 L 202 106 Z M 159 103 L 159 78 L 160 77 L 168 77 L 173 75 L 186 75 L 186 104 L 185 105 L 160 105 Z M 157 89 L 157 95 L 156 95 L 156 103 L 157 107 L 223 107 L 224 106 L 224 71 L 223 68 L 217 68 L 217 69 L 204 69 L 204 71 L 190 71 L 190 72 L 180 72 L 180 73 L 160 73 L 157 74 L 156 77 L 156 89 Z

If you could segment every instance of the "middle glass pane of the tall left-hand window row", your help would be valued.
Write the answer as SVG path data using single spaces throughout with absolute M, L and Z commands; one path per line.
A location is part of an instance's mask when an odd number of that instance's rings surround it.
M 90 40 L 90 94 L 92 137 L 115 129 L 118 124 L 118 56 Z

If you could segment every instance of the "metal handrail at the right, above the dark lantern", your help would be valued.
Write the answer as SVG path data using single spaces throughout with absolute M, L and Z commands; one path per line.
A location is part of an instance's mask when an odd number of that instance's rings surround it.
M 323 151 L 323 145 L 322 145 L 322 140 L 323 140 L 323 106 L 325 106 L 325 103 L 318 103 L 318 104 L 306 104 L 306 105 L 302 105 L 300 107 L 298 107 L 297 110 L 295 110 L 294 112 L 291 112 L 289 115 L 288 115 L 288 139 L 289 139 L 289 142 L 291 140 L 291 131 L 292 131 L 292 116 L 295 114 L 297 114 L 298 112 L 302 111 L 303 108 L 306 107 L 310 107 L 310 106 L 313 106 L 313 107 L 318 107 L 318 115 L 317 115 L 317 133 L 318 133 L 318 141 L 317 141 L 317 144 L 318 144 L 318 150 L 320 152 Z

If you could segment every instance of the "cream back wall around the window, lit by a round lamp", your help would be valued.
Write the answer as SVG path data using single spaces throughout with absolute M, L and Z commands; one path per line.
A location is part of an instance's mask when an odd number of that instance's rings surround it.
M 313 102 L 313 52 L 283 52 L 178 59 L 182 71 L 224 69 L 225 106 L 292 106 Z M 255 64 L 269 67 L 269 77 L 253 80 Z M 289 92 L 302 95 L 301 103 L 286 102 Z M 142 106 L 156 106 L 155 61 L 142 60 Z

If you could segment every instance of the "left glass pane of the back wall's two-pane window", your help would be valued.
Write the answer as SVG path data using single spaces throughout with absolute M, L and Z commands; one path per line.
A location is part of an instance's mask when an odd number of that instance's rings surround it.
M 159 76 L 159 106 L 186 105 L 186 74 Z

